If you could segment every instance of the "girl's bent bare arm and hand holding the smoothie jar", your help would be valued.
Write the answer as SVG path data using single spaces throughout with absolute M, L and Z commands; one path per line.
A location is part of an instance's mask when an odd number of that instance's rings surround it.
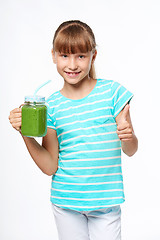
M 9 116 L 12 126 L 20 132 L 21 109 L 16 108 L 10 112 Z M 21 134 L 21 132 L 20 132 Z M 21 134 L 22 136 L 22 134 Z M 58 139 L 56 131 L 48 128 L 47 134 L 43 137 L 42 145 L 34 138 L 22 136 L 26 147 L 37 166 L 47 175 L 52 175 L 58 167 Z

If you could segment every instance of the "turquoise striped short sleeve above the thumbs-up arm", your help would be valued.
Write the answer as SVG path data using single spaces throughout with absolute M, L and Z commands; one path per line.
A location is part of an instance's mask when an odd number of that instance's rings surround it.
M 113 116 L 116 117 L 124 106 L 130 102 L 133 94 L 118 82 L 111 85 L 112 102 L 113 102 Z

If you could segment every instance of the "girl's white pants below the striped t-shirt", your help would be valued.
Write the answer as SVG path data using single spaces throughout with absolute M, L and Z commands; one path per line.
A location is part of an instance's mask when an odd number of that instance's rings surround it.
M 59 240 L 120 240 L 121 208 L 74 211 L 52 204 Z

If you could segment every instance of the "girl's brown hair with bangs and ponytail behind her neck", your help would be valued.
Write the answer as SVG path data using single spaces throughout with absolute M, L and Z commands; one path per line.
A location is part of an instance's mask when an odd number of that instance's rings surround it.
M 96 50 L 96 41 L 92 29 L 79 20 L 63 22 L 55 32 L 53 51 L 68 54 L 86 53 Z M 91 78 L 96 78 L 94 64 L 89 72 Z

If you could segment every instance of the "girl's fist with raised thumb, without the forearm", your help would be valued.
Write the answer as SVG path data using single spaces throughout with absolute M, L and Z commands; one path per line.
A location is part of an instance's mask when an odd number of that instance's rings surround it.
M 127 142 L 133 138 L 133 127 L 131 123 L 129 104 L 116 117 L 117 134 L 122 142 Z

